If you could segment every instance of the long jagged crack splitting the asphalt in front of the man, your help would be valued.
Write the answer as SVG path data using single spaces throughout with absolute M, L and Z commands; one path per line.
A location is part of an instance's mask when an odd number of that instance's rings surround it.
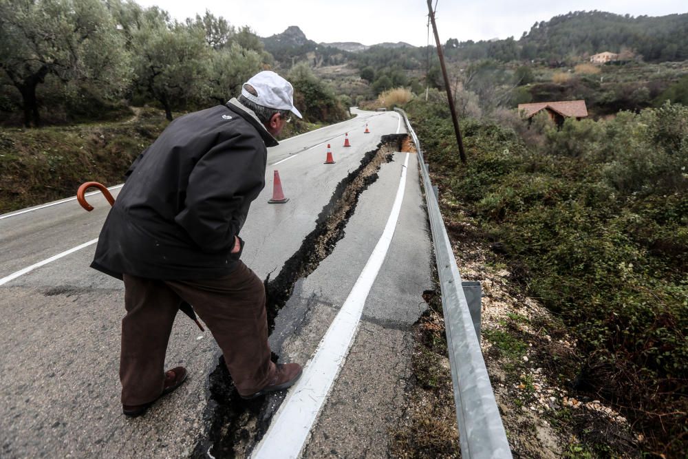
M 396 151 L 414 151 L 406 134 L 383 136 L 376 149 L 368 151 L 361 165 L 336 186 L 328 202 L 316 219 L 315 229 L 303 239 L 303 243 L 282 266 L 274 279 L 265 279 L 266 309 L 270 332 L 275 328 L 275 318 L 287 303 L 298 279 L 308 277 L 325 259 L 336 243 L 344 237 L 345 227 L 356 210 L 358 197 L 375 182 L 383 162 L 391 161 Z M 272 360 L 279 356 L 274 352 Z M 208 407 L 204 417 L 210 425 L 208 437 L 202 438 L 191 454 L 192 458 L 247 457 L 263 437 L 272 415 L 284 398 L 284 392 L 246 401 L 237 394 L 232 378 L 222 356 L 208 381 Z

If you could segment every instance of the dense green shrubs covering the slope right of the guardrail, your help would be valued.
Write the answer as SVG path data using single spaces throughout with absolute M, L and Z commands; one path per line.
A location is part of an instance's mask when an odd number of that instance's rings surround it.
M 533 123 L 530 147 L 462 120 L 467 164 L 445 107 L 407 111 L 444 202 L 462 202 L 513 279 L 577 337 L 581 390 L 615 403 L 648 451 L 685 450 L 688 107 Z

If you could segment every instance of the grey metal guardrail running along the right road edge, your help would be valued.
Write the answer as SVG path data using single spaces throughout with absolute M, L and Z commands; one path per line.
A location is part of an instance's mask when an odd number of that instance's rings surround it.
M 418 136 L 413 131 L 405 111 L 398 108 L 394 110 L 404 116 L 420 159 L 442 289 L 442 311 L 444 326 L 447 330 L 447 349 L 451 363 L 451 381 L 454 386 L 461 457 L 464 459 L 511 458 L 506 431 L 502 425 L 502 418 L 499 416 L 495 394 L 462 288 L 461 275 L 451 250 L 447 229 L 444 228 L 438 200 L 433 193 Z

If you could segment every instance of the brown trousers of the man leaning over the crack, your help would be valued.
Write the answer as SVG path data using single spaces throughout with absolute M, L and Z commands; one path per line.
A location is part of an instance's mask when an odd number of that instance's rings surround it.
M 182 300 L 193 305 L 213 333 L 239 394 L 254 394 L 268 384 L 275 365 L 270 363 L 265 288 L 244 263 L 220 279 L 156 281 L 124 275 L 124 281 L 123 404 L 142 405 L 162 393 L 165 352 Z

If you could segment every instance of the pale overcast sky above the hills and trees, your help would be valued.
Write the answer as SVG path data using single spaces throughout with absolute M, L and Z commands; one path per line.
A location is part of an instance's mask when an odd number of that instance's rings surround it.
M 434 1 L 434 0 L 433 0 Z M 230 24 L 249 25 L 259 36 L 298 25 L 317 43 L 357 41 L 374 45 L 385 41 L 427 43 L 426 0 L 136 0 L 157 5 L 184 20 L 209 10 Z M 664 16 L 688 12 L 686 0 L 438 0 L 440 41 L 519 39 L 536 21 L 548 21 L 570 11 L 600 10 L 617 14 Z M 432 32 L 431 43 L 434 43 Z

